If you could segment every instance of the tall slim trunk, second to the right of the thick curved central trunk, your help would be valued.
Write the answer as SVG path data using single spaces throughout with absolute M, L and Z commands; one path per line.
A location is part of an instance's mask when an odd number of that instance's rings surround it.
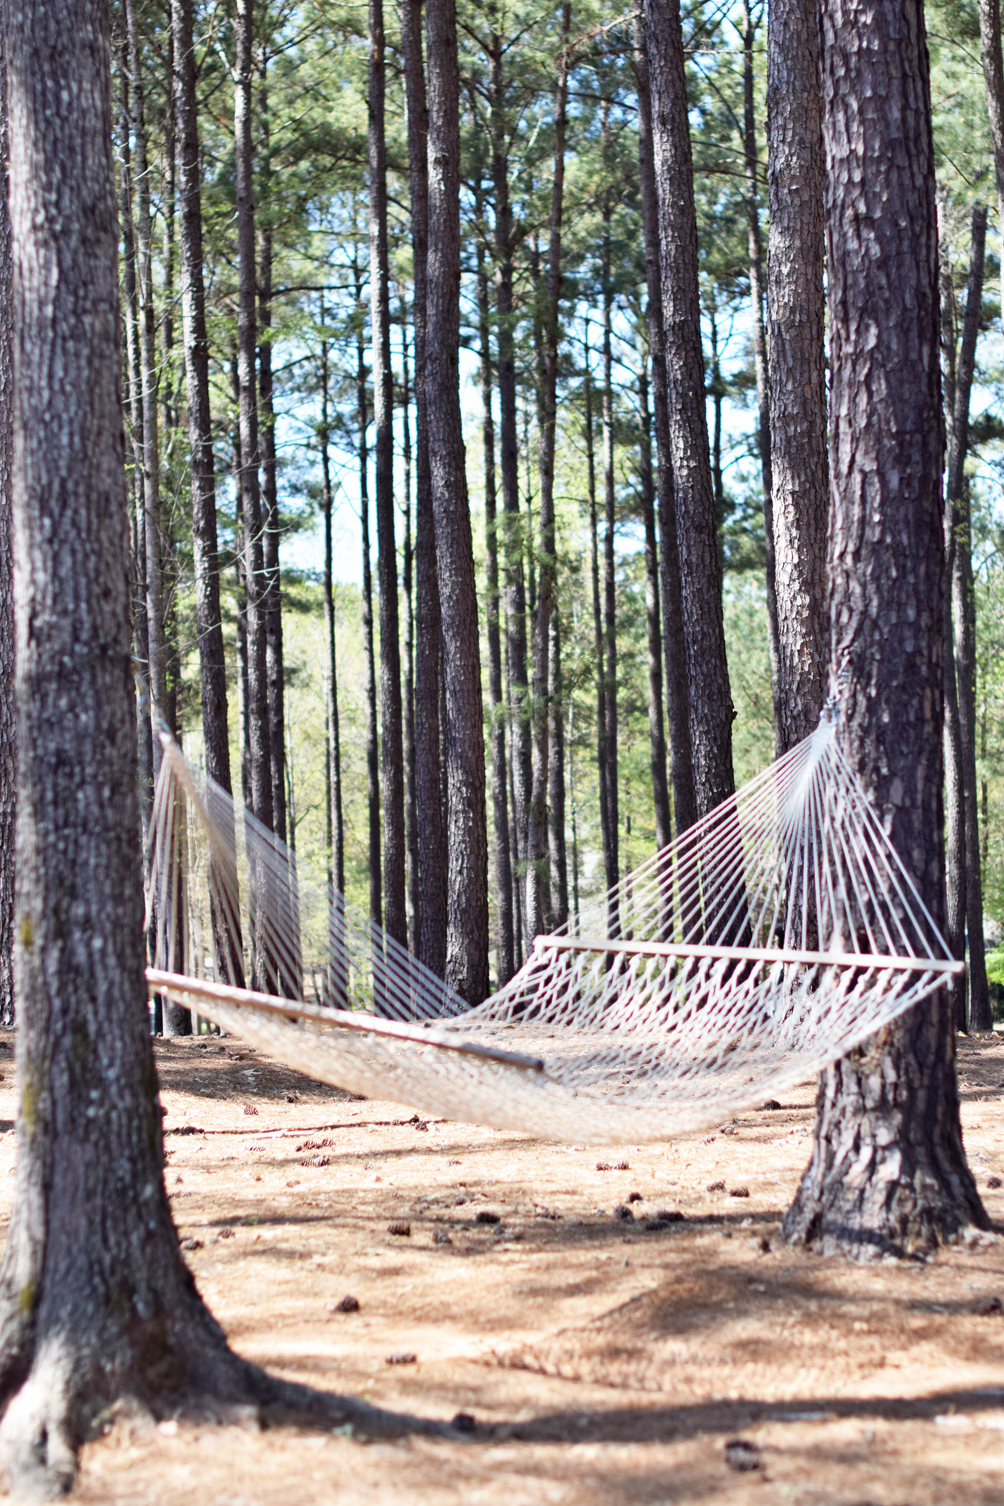
M 513 342 L 513 227 L 509 200 L 509 122 L 506 119 L 504 42 L 492 33 L 488 50 L 491 89 L 492 185 L 495 190 L 495 312 L 498 315 L 498 450 L 503 489 L 503 565 L 506 578 L 506 667 L 509 675 L 510 762 L 516 843 L 512 858 L 521 925 L 525 922 L 527 822 L 533 765 L 530 751 L 530 682 L 527 675 L 527 586 L 519 517 L 519 431 L 516 428 L 516 358 Z

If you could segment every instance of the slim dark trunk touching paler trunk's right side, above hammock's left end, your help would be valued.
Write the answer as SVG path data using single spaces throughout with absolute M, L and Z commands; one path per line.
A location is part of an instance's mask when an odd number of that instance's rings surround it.
M 278 494 L 275 488 L 275 407 L 272 402 L 272 226 L 271 136 L 268 117 L 268 51 L 257 47 L 257 390 L 262 444 L 262 611 L 265 614 L 265 676 L 268 679 L 268 755 L 272 780 L 272 831 L 291 840 L 286 815 L 286 675 L 283 670 L 283 598 L 278 574 Z M 294 843 L 291 843 L 294 845 Z

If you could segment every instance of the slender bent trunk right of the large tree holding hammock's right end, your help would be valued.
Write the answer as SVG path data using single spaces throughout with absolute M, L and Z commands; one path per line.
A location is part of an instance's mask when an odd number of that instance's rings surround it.
M 945 505 L 953 532 L 951 616 L 954 619 L 956 694 L 959 706 L 957 773 L 962 776 L 965 821 L 965 896 L 966 941 L 969 953 L 969 1029 L 992 1030 L 993 1015 L 986 977 L 983 944 L 983 880 L 980 872 L 980 807 L 975 771 L 975 596 L 972 590 L 972 529 L 969 486 L 965 474 L 969 447 L 969 395 L 975 367 L 975 342 L 983 303 L 983 252 L 986 244 L 986 205 L 972 209 L 972 250 L 966 285 L 966 312 L 962 348 L 956 370 L 951 443 L 948 446 L 948 485 Z

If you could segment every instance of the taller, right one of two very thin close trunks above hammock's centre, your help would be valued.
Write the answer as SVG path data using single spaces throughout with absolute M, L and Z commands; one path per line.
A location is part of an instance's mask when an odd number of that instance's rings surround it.
M 613 346 L 611 346 L 611 310 L 613 285 L 610 279 L 610 200 L 604 199 L 604 498 L 607 532 L 604 536 L 604 673 L 607 676 L 604 724 L 605 751 L 604 773 L 607 776 L 607 822 L 604 825 L 604 867 L 607 870 L 607 889 L 613 890 L 620 881 L 619 861 L 619 809 L 617 809 L 617 575 L 614 571 L 614 529 L 616 489 L 614 489 L 614 383 L 613 383 Z M 620 934 L 620 922 L 616 913 L 616 901 L 611 901 L 610 926 L 611 935 Z

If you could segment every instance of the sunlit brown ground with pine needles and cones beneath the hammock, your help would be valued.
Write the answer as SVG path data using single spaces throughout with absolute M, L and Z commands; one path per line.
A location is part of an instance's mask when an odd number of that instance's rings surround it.
M 12 1054 L 0 1038 L 5 1224 Z M 807 1160 L 810 1083 L 706 1137 L 598 1152 L 418 1122 L 232 1038 L 157 1054 L 175 1217 L 235 1348 L 382 1407 L 467 1413 L 491 1437 L 120 1422 L 86 1447 L 74 1500 L 1004 1501 L 999 1036 L 962 1041 L 959 1074 L 1001 1233 L 872 1267 L 778 1239 Z M 340 1310 L 345 1297 L 358 1309 Z

